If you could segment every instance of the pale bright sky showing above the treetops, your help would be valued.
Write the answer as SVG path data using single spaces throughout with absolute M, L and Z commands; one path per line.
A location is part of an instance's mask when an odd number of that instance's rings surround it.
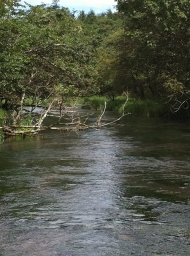
M 42 2 L 45 4 L 51 4 L 51 0 L 25 0 L 25 2 L 31 5 L 38 5 Z M 59 0 L 59 5 L 68 7 L 68 9 L 89 12 L 91 9 L 96 13 L 105 12 L 108 9 L 114 11 L 116 2 L 114 0 Z

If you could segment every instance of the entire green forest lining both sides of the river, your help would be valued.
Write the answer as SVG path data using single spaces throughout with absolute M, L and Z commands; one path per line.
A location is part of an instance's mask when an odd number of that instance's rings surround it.
M 115 12 L 100 14 L 56 0 L 0 2 L 1 134 L 39 129 L 51 107 L 61 111 L 74 99 L 107 99 L 110 109 L 119 101 L 122 115 L 139 104 L 146 115 L 189 118 L 190 2 L 115 2 Z M 24 106 L 46 110 L 24 123 Z

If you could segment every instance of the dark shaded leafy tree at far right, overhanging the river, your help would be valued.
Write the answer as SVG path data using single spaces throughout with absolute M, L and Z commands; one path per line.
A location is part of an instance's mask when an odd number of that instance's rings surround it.
M 125 44 L 133 45 L 131 54 L 124 47 L 123 68 L 135 70 L 135 84 L 141 83 L 143 93 L 150 92 L 152 97 L 175 94 L 174 100 L 181 102 L 179 94 L 183 93 L 189 98 L 190 2 L 116 2 L 124 19 Z

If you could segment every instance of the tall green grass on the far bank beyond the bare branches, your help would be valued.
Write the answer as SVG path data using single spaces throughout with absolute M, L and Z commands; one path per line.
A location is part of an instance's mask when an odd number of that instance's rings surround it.
M 84 98 L 85 108 L 100 110 L 107 103 L 107 110 L 118 111 L 122 113 L 126 97 L 117 96 L 114 101 L 107 97 L 92 96 Z M 162 103 L 153 100 L 128 99 L 125 105 L 125 111 L 135 116 L 165 116 L 167 110 Z

